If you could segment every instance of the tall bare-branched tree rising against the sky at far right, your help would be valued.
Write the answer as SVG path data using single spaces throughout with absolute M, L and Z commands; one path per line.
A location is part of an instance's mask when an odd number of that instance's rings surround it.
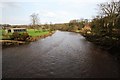
M 120 1 L 102 3 L 99 5 L 101 16 L 104 18 L 104 27 L 109 34 L 112 29 L 118 27 L 118 16 L 120 16 Z

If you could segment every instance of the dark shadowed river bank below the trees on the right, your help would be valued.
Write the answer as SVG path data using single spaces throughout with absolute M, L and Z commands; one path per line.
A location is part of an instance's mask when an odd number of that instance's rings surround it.
M 110 37 L 106 35 L 92 35 L 92 34 L 82 34 L 86 40 L 94 43 L 103 50 L 108 51 L 110 54 L 114 55 L 117 60 L 120 61 L 120 38 Z

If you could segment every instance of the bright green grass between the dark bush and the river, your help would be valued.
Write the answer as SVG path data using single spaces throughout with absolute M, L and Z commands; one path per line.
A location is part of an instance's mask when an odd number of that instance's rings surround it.
M 32 37 L 36 37 L 36 36 L 41 36 L 44 34 L 48 34 L 49 31 L 43 31 L 43 30 L 34 30 L 34 29 L 28 29 L 27 30 L 28 34 Z

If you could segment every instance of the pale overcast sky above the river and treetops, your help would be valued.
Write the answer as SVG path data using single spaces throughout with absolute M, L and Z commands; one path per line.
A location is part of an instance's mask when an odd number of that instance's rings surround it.
M 110 0 L 1 0 L 0 23 L 30 24 L 30 15 L 38 13 L 41 23 L 64 23 L 72 19 L 91 19 L 97 4 Z

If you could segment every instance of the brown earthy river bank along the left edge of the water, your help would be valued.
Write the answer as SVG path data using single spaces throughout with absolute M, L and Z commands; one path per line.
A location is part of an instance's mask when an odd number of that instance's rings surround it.
M 49 32 L 47 34 L 40 35 L 40 36 L 29 37 L 26 41 L 0 40 L 0 43 L 2 43 L 2 48 L 19 46 L 19 45 L 29 44 L 30 42 L 37 41 L 38 39 L 46 38 L 48 36 L 51 36 L 54 33 L 55 33 L 55 31 Z

